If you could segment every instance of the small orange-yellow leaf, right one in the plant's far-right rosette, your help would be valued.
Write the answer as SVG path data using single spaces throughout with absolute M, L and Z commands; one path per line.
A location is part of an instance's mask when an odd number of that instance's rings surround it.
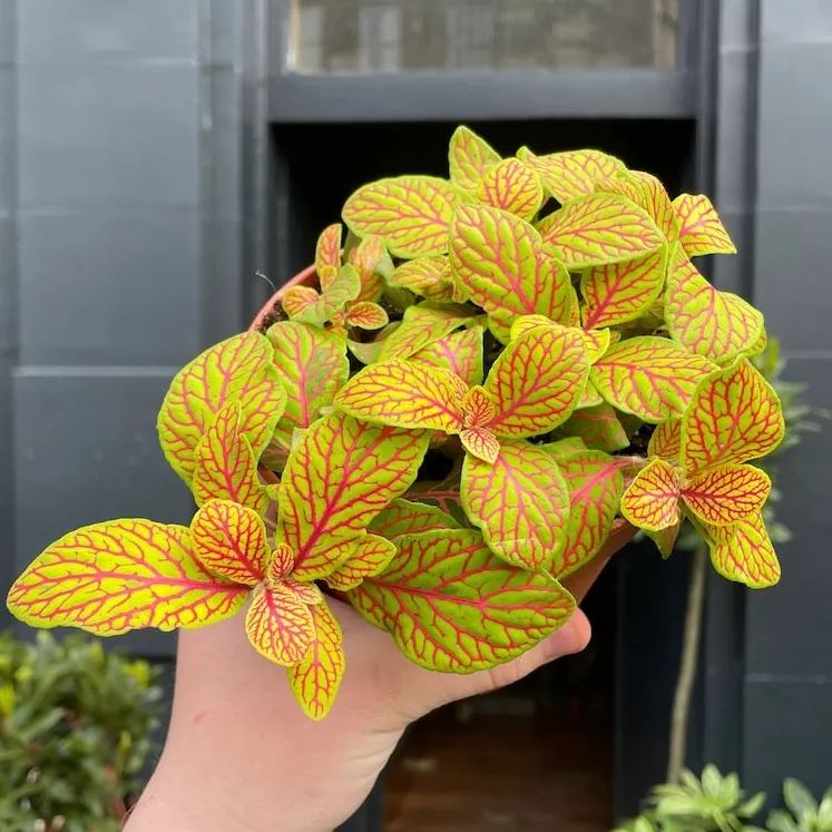
M 772 482 L 764 471 L 736 463 L 712 468 L 685 483 L 691 511 L 713 526 L 726 526 L 762 510 Z

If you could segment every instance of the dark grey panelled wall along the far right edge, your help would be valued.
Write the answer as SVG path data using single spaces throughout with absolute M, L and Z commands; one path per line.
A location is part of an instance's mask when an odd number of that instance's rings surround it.
M 832 408 L 832 3 L 763 0 L 754 297 L 789 374 Z M 783 580 L 746 605 L 743 764 L 755 786 L 832 781 L 832 425 L 783 462 Z

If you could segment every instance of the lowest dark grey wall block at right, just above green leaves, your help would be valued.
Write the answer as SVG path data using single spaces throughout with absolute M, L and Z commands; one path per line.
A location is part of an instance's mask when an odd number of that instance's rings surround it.
M 820 794 L 832 772 L 832 681 L 754 679 L 745 686 L 743 785 L 776 801 L 783 777 Z

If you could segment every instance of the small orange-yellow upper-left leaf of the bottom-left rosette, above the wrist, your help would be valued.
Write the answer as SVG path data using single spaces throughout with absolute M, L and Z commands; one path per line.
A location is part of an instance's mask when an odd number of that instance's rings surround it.
M 256 511 L 211 500 L 194 515 L 190 534 L 199 561 L 214 575 L 254 586 L 266 572 L 266 529 Z

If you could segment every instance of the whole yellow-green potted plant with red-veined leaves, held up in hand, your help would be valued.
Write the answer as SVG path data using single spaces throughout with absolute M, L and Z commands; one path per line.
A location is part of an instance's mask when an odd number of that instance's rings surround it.
M 627 521 L 667 555 L 688 520 L 726 578 L 777 580 L 748 461 L 783 419 L 748 361 L 762 315 L 692 263 L 734 252 L 707 197 L 598 150 L 501 159 L 460 127 L 450 179 L 371 183 L 343 221 L 317 287 L 174 379 L 159 438 L 190 526 L 69 532 L 12 587 L 16 616 L 117 635 L 247 605 L 320 718 L 345 662 L 327 595 L 471 673 L 559 627 L 560 581 Z

